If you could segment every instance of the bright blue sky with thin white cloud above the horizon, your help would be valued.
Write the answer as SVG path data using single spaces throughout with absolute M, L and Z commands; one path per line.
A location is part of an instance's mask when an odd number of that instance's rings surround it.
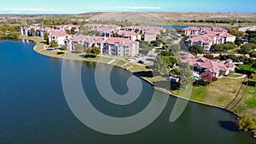
M 2 0 L 0 14 L 78 14 L 99 11 L 256 13 L 255 0 Z

